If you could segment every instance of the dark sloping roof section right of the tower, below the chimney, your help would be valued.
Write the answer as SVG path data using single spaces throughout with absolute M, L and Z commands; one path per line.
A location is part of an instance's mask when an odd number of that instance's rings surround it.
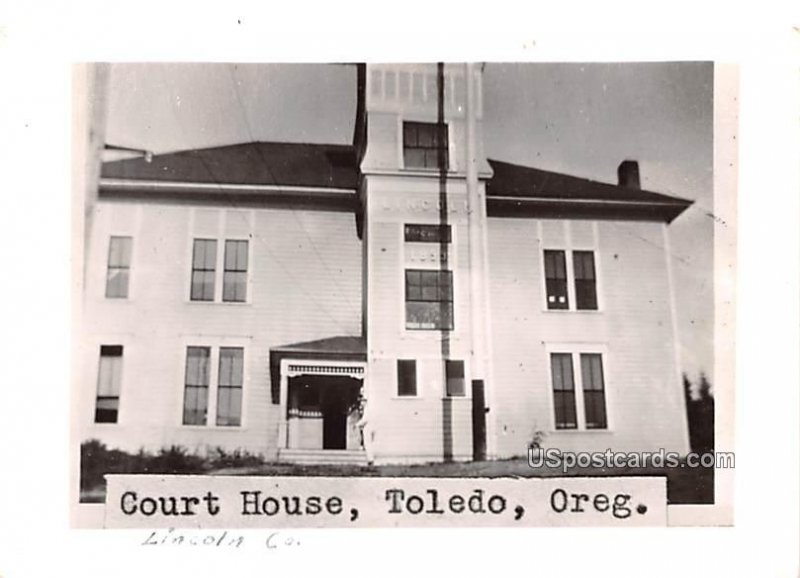
M 672 221 L 692 201 L 489 159 L 486 183 L 490 216 L 597 218 Z

